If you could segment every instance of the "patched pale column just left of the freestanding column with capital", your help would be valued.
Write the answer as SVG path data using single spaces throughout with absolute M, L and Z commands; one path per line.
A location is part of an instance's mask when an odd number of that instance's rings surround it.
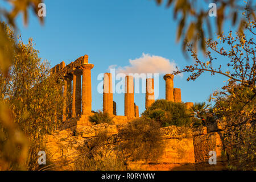
M 154 92 L 154 78 L 146 79 L 146 109 L 155 102 L 155 92 Z

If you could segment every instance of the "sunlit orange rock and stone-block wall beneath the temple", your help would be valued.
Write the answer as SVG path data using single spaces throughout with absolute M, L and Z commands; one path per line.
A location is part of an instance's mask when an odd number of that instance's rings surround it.
M 109 136 L 103 150 L 114 148 L 122 137 L 118 130 L 123 125 L 100 124 L 93 126 L 78 126 L 76 132 L 56 131 L 47 137 L 47 150 L 50 151 L 53 161 L 59 163 L 69 159 L 70 164 L 65 164 L 64 170 L 72 170 L 72 160 L 76 158 L 77 149 L 84 146 L 92 138 L 97 138 L 101 133 Z M 222 170 L 226 168 L 226 159 L 221 155 L 222 142 L 217 132 L 207 133 L 206 127 L 188 129 L 183 127 L 168 126 L 161 129 L 164 143 L 163 155 L 157 161 L 129 162 L 130 169 L 141 170 Z M 209 152 L 216 151 L 217 165 L 210 165 Z M 114 154 L 112 154 L 114 155 Z M 58 162 L 59 161 L 59 162 Z M 68 161 L 68 160 L 67 160 Z

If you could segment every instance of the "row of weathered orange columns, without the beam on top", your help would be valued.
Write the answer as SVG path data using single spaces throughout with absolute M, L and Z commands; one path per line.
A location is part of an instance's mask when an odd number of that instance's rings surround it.
M 93 64 L 85 64 L 80 69 L 74 69 L 71 75 L 66 75 L 64 79 L 63 96 L 67 98 L 64 101 L 63 119 L 76 117 L 81 114 L 90 114 L 92 110 L 92 87 L 90 70 Z M 81 86 L 82 75 L 82 86 Z M 174 75 L 164 75 L 166 81 L 166 100 L 181 102 L 181 90 L 174 88 Z M 73 85 L 72 84 L 73 81 Z M 72 96 L 68 96 L 71 93 Z M 81 89 L 82 88 L 82 89 Z M 103 94 L 103 111 L 104 113 L 116 115 L 116 103 L 113 101 L 112 74 L 104 73 L 104 94 Z M 72 103 L 68 103 L 71 101 Z M 154 78 L 146 79 L 146 109 L 154 103 Z M 186 107 L 193 106 L 192 102 L 185 103 Z M 71 114 L 72 113 L 72 114 Z M 126 76 L 125 79 L 125 115 L 127 118 L 139 116 L 139 108 L 134 103 L 134 81 L 133 76 Z

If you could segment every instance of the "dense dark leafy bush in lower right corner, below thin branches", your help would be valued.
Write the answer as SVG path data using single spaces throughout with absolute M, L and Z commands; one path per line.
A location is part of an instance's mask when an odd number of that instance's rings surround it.
M 243 85 L 229 85 L 225 96 L 215 93 L 213 114 L 225 126 L 222 142 L 229 169 L 255 170 L 255 94 Z

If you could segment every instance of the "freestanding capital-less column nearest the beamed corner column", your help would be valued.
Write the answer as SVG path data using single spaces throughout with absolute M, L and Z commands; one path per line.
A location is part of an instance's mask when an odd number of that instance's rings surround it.
M 104 73 L 103 112 L 113 114 L 112 74 Z

